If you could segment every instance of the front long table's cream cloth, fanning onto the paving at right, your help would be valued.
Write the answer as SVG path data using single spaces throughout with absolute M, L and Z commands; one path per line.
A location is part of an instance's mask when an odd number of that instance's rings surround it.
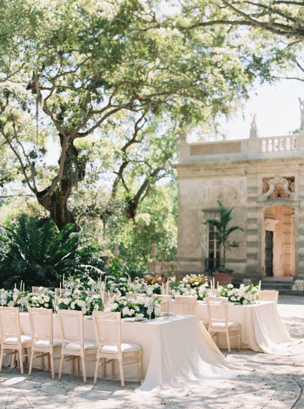
M 22 333 L 29 334 L 27 313 L 20 314 Z M 60 338 L 59 319 L 53 318 L 54 337 Z M 85 340 L 95 341 L 92 319 L 84 319 Z M 205 327 L 196 316 L 172 316 L 168 320 L 157 318 L 149 322 L 122 321 L 122 342 L 142 347 L 141 386 L 136 392 L 154 395 L 183 396 L 191 391 L 215 385 L 240 374 L 248 373 L 243 366 L 227 361 L 214 344 Z M 58 354 L 60 356 L 60 353 Z M 88 360 L 91 357 L 88 357 Z M 129 362 L 132 362 L 132 358 Z M 34 367 L 40 368 L 39 359 Z M 93 376 L 95 364 L 87 364 L 87 375 Z M 58 372 L 59 360 L 55 361 Z M 63 373 L 70 373 L 65 364 Z M 124 369 L 125 379 L 138 379 L 137 365 Z M 101 373 L 98 382 L 102 382 Z M 115 378 L 119 379 L 118 367 Z

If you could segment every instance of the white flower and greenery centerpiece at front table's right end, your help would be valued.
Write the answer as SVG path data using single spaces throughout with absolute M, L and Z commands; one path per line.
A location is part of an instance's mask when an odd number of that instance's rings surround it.
M 148 305 L 153 303 L 154 309 L 151 313 L 151 318 L 156 318 L 161 313 L 161 307 L 157 300 L 152 300 L 151 297 L 143 297 L 138 295 L 136 298 L 116 297 L 114 296 L 111 302 L 110 309 L 112 312 L 119 312 L 122 318 L 138 317 L 149 318 Z

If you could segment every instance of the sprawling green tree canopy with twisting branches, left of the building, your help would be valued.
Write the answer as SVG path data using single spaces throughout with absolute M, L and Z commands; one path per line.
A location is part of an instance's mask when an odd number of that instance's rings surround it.
M 184 29 L 183 19 L 196 19 L 190 3 L 178 16 L 156 0 L 7 4 L 0 2 L 0 135 L 10 152 L 0 161 L 9 171 L 3 184 L 26 186 L 59 228 L 75 222 L 68 199 L 80 182 L 102 173 L 110 174 L 102 215 L 123 192 L 134 220 L 151 183 L 170 172 L 180 126 L 229 114 L 256 76 L 271 77 L 269 60 L 224 25 Z M 197 4 L 200 13 L 208 4 Z

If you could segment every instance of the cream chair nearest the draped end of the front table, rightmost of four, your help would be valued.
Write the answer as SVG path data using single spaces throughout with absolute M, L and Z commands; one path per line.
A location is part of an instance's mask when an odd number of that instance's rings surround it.
M 93 311 L 94 328 L 98 345 L 97 360 L 95 367 L 94 384 L 97 382 L 99 365 L 103 365 L 103 376 L 105 365 L 111 364 L 111 377 L 113 376 L 113 360 L 117 359 L 122 387 L 125 387 L 124 367 L 138 365 L 138 381 L 141 381 L 141 347 L 136 344 L 126 344 L 121 341 L 121 313 L 106 313 Z M 137 361 L 123 364 L 126 357 L 136 357 Z M 100 361 L 102 360 L 102 361 Z

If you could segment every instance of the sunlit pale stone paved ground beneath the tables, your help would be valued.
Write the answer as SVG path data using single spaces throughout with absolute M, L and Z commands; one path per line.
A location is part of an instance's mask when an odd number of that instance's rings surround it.
M 279 313 L 291 335 L 304 338 L 304 297 L 280 296 Z M 304 344 L 291 348 L 294 356 L 281 357 L 233 350 L 229 359 L 256 371 L 200 393 L 178 398 L 147 397 L 134 393 L 138 386 L 118 381 L 92 379 L 83 384 L 77 376 L 52 380 L 50 373 L 35 371 L 31 377 L 18 369 L 0 374 L 0 409 L 303 409 Z M 223 351 L 226 355 L 226 351 Z

